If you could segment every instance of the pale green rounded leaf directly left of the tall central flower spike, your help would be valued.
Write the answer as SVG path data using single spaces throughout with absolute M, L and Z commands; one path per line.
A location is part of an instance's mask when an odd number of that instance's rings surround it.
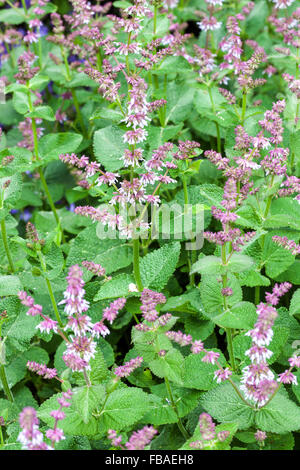
M 117 126 L 98 129 L 94 134 L 94 153 L 98 162 L 106 171 L 116 171 L 122 168 L 122 156 L 127 144 L 123 142 L 124 132 Z

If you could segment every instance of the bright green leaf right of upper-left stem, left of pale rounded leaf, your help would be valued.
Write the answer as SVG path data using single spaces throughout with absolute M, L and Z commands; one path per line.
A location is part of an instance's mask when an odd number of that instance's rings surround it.
M 61 153 L 75 152 L 82 141 L 82 135 L 74 132 L 47 134 L 39 141 L 39 153 L 42 158 L 55 159 Z

